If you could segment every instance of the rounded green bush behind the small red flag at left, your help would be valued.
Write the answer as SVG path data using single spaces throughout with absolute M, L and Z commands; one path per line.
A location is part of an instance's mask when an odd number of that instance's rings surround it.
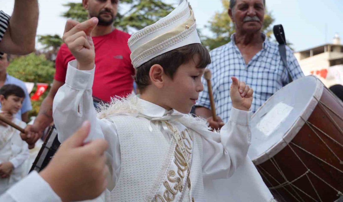
M 11 61 L 9 67 L 7 68 L 8 73 L 19 78 L 24 82 L 34 82 L 34 83 L 52 83 L 55 74 L 55 65 L 53 62 L 47 60 L 45 55 L 36 55 L 31 53 L 26 56 L 21 56 L 15 58 Z M 32 110 L 29 112 L 29 117 L 37 116 L 39 107 L 43 102 L 43 99 L 47 96 L 50 87 L 47 91 L 40 96 L 38 101 L 32 100 Z M 37 90 L 36 86 L 32 90 L 35 93 Z

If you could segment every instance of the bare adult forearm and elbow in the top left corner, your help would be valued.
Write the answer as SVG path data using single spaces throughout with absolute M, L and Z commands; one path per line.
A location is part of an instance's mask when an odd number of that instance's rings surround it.
M 38 1 L 15 0 L 8 28 L 0 42 L 0 52 L 25 55 L 35 50 Z

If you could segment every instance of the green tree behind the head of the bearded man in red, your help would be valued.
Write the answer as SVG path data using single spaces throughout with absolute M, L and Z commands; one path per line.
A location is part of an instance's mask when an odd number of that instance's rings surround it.
M 114 26 L 126 32 L 151 25 L 174 10 L 173 5 L 164 3 L 162 0 L 121 0 L 120 4 L 129 6 L 129 9 L 125 13 L 118 13 Z M 69 9 L 62 16 L 79 22 L 88 18 L 82 3 L 68 3 L 64 6 Z

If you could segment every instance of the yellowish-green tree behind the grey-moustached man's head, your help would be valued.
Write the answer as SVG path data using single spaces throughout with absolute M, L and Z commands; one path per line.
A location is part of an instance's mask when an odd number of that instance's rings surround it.
M 216 12 L 209 21 L 209 25 L 205 26 L 209 28 L 214 35 L 214 37 L 202 36 L 203 44 L 208 46 L 210 50 L 230 42 L 230 36 L 235 32 L 234 23 L 231 21 L 231 18 L 227 13 L 229 3 L 230 1 L 222 0 L 223 11 Z M 267 35 L 267 37 L 270 37 L 273 34 L 273 29 L 271 27 L 273 22 L 273 16 L 270 12 L 266 11 L 262 31 Z

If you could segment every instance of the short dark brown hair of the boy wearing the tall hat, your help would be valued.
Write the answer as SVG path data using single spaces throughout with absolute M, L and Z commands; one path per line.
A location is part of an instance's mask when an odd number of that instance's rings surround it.
M 143 92 L 146 86 L 150 85 L 149 72 L 153 65 L 161 65 L 166 75 L 173 79 L 176 70 L 182 64 L 187 63 L 196 54 L 199 54 L 200 56 L 200 63 L 197 65 L 197 68 L 205 68 L 211 63 L 211 57 L 206 47 L 200 43 L 194 43 L 156 56 L 142 64 L 137 68 L 136 75 L 134 77 L 138 89 L 140 92 Z

